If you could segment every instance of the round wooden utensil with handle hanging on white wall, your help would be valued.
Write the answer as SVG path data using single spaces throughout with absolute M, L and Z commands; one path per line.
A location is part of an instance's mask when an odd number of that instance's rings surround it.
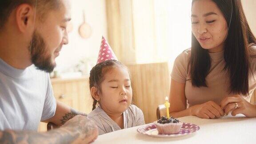
M 84 23 L 80 25 L 78 32 L 79 32 L 79 35 L 82 38 L 88 39 L 91 36 L 91 34 L 92 34 L 92 28 L 85 21 L 85 13 L 84 13 L 84 11 L 83 11 L 83 17 L 84 17 Z

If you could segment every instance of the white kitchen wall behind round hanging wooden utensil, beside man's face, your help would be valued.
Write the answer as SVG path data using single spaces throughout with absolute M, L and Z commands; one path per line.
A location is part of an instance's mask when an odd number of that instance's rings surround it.
M 69 70 L 72 65 L 76 65 L 86 57 L 92 58 L 93 63 L 96 64 L 101 36 L 107 37 L 105 0 L 70 1 L 73 31 L 69 33 L 69 44 L 63 46 L 60 56 L 56 58 L 56 70 L 60 72 Z M 92 36 L 88 39 L 82 39 L 78 33 L 78 28 L 83 23 L 83 10 L 86 14 L 86 22 L 92 26 Z

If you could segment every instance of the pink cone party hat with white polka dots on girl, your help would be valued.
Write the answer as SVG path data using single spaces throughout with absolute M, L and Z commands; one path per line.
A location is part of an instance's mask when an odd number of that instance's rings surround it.
M 97 64 L 106 61 L 106 60 L 117 60 L 115 53 L 112 48 L 108 44 L 108 41 L 102 36 L 99 57 L 97 60 Z

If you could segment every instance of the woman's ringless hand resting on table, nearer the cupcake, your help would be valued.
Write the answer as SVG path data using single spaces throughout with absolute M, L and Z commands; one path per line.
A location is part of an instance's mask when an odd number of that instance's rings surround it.
M 208 101 L 204 104 L 198 104 L 191 107 L 192 116 L 197 116 L 203 119 L 215 119 L 224 116 L 223 109 L 213 101 Z

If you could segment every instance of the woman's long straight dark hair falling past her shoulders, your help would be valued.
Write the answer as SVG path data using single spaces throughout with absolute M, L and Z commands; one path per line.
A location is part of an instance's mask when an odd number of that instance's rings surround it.
M 192 4 L 196 0 L 192 0 Z M 220 8 L 228 24 L 228 36 L 225 40 L 224 70 L 229 74 L 230 93 L 248 94 L 249 44 L 256 44 L 255 36 L 248 25 L 240 0 L 212 0 Z M 231 21 L 230 21 L 231 20 Z M 202 48 L 192 34 L 190 75 L 194 87 L 207 87 L 205 77 L 211 67 L 208 50 Z

